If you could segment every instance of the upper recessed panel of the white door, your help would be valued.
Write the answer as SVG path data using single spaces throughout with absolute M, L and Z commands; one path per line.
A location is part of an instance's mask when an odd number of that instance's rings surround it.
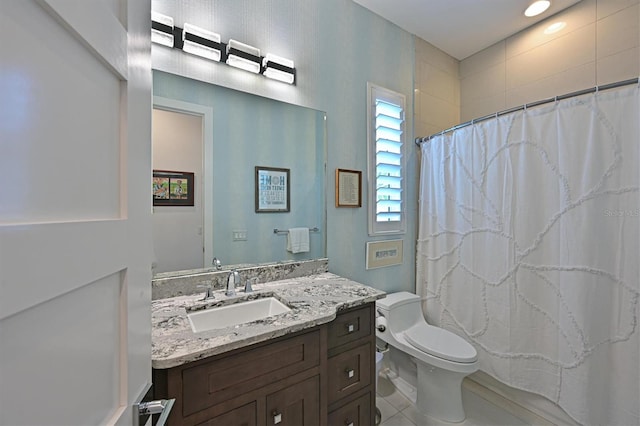
M 9 155 L 0 157 L 0 179 L 12 183 L 0 189 L 2 223 L 118 218 L 120 76 L 45 10 L 24 3 L 2 5 L 13 41 L 2 46 L 12 80 L 5 108 L 18 109 L 1 142 Z

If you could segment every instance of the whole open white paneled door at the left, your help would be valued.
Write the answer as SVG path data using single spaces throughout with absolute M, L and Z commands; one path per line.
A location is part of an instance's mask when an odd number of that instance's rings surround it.
M 151 380 L 149 0 L 0 2 L 0 424 L 131 424 Z

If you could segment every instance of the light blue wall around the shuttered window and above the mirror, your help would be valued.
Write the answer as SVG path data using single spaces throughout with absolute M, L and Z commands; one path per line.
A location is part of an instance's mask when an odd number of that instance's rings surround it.
M 295 61 L 289 86 L 153 46 L 154 69 L 326 111 L 328 157 L 327 256 L 329 269 L 385 291 L 415 287 L 418 153 L 413 140 L 414 41 L 411 34 L 351 0 L 153 0 L 154 11 L 173 16 Z M 378 84 L 407 98 L 408 227 L 401 238 L 404 264 L 366 270 L 366 85 Z M 336 208 L 336 168 L 363 171 L 364 205 Z M 251 196 L 252 194 L 248 194 Z

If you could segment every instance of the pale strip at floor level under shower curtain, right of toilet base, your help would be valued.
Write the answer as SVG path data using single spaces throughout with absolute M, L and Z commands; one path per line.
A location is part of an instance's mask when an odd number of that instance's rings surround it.
M 462 386 L 530 425 L 578 426 L 560 407 L 546 398 L 513 389 L 481 371 L 467 376 Z

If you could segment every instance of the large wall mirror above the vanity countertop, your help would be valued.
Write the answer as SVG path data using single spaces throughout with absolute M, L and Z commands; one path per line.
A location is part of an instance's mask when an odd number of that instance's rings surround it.
M 194 203 L 153 207 L 154 274 L 326 257 L 326 114 L 153 72 L 153 169 L 194 173 Z M 289 171 L 289 211 L 257 212 L 255 168 Z M 287 250 L 308 227 L 309 250 Z M 278 229 L 283 232 L 274 233 Z

